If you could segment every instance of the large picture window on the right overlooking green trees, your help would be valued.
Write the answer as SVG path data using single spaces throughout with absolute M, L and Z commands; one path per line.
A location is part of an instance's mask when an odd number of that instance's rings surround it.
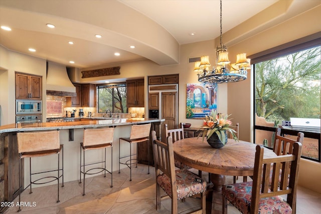
M 320 162 L 319 128 L 295 130 L 290 118 L 320 119 L 321 38 L 294 43 L 252 56 L 254 142 L 272 148 L 276 127 L 282 127 L 281 134 L 292 139 L 299 130 L 304 132 L 302 157 Z

